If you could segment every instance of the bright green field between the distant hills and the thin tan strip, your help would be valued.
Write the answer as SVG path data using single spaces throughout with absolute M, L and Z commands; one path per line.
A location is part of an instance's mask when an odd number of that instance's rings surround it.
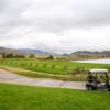
M 33 72 L 42 72 L 55 75 L 70 75 L 72 73 L 87 73 L 90 68 L 107 68 L 110 72 L 109 64 L 87 64 L 72 63 L 69 61 L 36 61 L 36 59 L 3 59 L 0 65 L 18 67 Z M 79 72 L 77 72 L 77 68 Z M 84 69 L 84 70 L 82 70 Z

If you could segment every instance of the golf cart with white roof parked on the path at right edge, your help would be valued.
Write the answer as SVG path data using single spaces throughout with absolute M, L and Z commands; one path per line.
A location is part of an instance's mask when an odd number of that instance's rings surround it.
M 109 90 L 110 82 L 107 69 L 90 69 L 88 72 L 86 88 L 88 90 Z

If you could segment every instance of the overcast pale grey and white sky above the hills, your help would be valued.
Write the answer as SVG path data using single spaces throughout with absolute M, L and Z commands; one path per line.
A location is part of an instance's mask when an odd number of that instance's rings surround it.
M 0 0 L 0 46 L 110 51 L 110 0 Z

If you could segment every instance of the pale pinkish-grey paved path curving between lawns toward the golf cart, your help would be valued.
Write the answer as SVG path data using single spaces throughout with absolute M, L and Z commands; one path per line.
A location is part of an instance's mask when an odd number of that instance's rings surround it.
M 85 82 L 81 81 L 62 81 L 45 78 L 30 78 L 0 69 L 0 82 L 20 84 L 29 86 L 85 89 Z

